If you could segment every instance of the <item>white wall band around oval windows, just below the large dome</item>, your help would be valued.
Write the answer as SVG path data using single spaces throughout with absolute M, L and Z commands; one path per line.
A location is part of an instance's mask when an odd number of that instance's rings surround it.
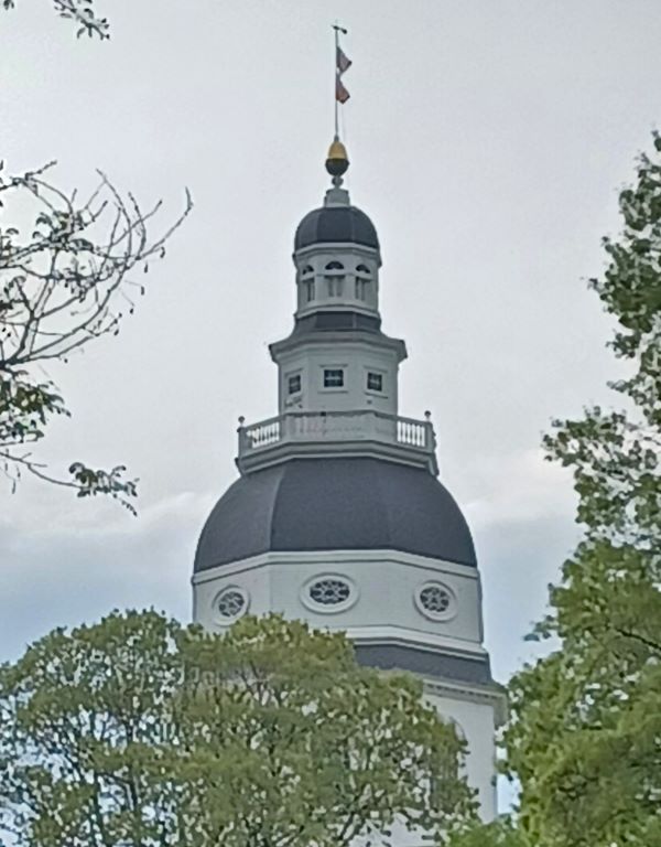
M 305 587 L 324 576 L 351 585 L 347 604 L 324 608 L 310 601 Z M 429 582 L 446 586 L 453 596 L 445 620 L 421 610 L 416 591 Z M 252 614 L 281 612 L 313 626 L 346 630 L 360 640 L 397 631 L 407 642 L 454 644 L 458 653 L 484 654 L 479 576 L 466 565 L 392 550 L 270 553 L 198 573 L 193 585 L 195 620 L 210 630 L 231 623 L 219 617 L 215 599 L 237 586 L 248 592 Z

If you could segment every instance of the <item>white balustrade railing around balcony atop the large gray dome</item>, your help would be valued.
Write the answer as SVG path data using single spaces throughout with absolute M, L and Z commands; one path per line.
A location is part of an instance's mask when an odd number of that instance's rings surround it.
M 378 441 L 424 453 L 436 447 L 429 420 L 380 411 L 292 411 L 239 427 L 239 459 L 274 444 L 292 442 Z

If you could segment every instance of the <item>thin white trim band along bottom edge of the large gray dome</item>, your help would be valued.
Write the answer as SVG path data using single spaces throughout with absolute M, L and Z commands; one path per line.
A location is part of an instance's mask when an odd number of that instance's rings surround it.
M 245 570 L 266 567 L 268 565 L 330 565 L 337 567 L 338 564 L 351 562 L 359 565 L 368 561 L 382 561 L 383 564 L 407 565 L 412 568 L 424 568 L 425 570 L 435 570 L 437 573 L 454 573 L 465 579 L 479 580 L 479 572 L 475 565 L 459 565 L 455 561 L 445 561 L 444 559 L 432 559 L 426 556 L 419 556 L 413 553 L 400 553 L 399 550 L 270 550 L 250 556 L 239 561 L 217 565 L 215 568 L 193 573 L 191 582 L 196 586 L 202 582 L 208 582 L 219 576 L 228 577 L 234 573 L 241 573 Z

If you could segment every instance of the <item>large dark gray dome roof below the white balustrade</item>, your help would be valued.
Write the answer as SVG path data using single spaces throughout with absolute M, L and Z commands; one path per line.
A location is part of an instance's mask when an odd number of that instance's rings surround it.
M 293 459 L 241 476 L 199 537 L 195 571 L 269 550 L 394 549 L 476 565 L 470 530 L 424 469 L 379 459 Z

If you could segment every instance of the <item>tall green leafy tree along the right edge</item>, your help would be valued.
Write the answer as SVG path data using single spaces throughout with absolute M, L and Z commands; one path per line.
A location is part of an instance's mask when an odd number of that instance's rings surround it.
M 584 537 L 538 635 L 560 647 L 510 686 L 508 763 L 540 847 L 661 845 L 661 138 L 620 194 L 621 235 L 592 280 L 617 321 L 626 408 L 556 421 Z

